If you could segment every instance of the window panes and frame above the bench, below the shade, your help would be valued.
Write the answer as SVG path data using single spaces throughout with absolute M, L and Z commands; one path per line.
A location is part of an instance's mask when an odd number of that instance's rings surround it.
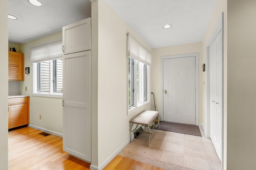
M 149 66 L 128 57 L 129 109 L 149 101 Z

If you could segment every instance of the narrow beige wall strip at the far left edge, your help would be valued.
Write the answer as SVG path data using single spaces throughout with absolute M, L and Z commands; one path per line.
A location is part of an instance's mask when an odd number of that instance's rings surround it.
M 8 0 L 0 1 L 0 167 L 8 170 Z

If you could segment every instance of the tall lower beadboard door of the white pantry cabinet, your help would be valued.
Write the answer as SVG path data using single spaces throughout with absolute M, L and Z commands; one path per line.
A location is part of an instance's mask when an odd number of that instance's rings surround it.
M 90 51 L 63 55 L 63 150 L 91 161 Z

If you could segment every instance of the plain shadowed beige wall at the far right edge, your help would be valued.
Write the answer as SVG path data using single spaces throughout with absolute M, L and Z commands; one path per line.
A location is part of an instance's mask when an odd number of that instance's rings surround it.
M 256 168 L 255 16 L 255 0 L 228 0 L 228 170 Z

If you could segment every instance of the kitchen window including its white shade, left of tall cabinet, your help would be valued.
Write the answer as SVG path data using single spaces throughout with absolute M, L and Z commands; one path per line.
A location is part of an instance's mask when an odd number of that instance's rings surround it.
M 62 40 L 31 47 L 33 94 L 62 97 Z

